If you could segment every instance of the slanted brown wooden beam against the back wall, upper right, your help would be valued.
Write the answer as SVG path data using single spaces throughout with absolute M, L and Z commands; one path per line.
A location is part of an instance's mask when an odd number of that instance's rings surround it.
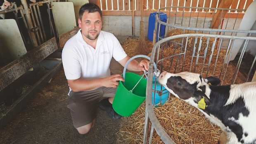
M 220 5 L 218 8 L 229 8 L 233 1 L 234 0 L 220 0 Z M 227 12 L 228 11 L 217 10 L 211 21 L 210 28 L 218 28 Z

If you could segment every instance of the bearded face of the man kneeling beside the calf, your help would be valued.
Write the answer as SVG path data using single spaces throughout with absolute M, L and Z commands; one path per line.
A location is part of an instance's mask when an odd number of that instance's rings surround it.
M 99 12 L 84 12 L 82 19 L 78 19 L 78 26 L 81 28 L 83 39 L 95 40 L 100 34 L 102 21 Z

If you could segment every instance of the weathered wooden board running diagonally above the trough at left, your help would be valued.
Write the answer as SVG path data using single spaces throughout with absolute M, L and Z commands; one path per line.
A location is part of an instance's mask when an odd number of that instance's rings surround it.
M 0 69 L 0 91 L 58 49 L 55 37 Z

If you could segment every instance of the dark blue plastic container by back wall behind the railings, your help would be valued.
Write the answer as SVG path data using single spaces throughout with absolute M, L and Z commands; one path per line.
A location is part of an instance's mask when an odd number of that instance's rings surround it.
M 167 14 L 164 12 L 159 13 L 159 19 L 162 22 L 167 21 Z M 153 34 L 154 34 L 154 29 L 155 29 L 155 22 L 156 22 L 156 12 L 153 12 L 149 15 L 149 25 L 148 25 L 148 31 L 147 31 L 147 39 L 153 41 Z M 165 25 L 160 25 L 160 37 L 164 38 L 165 35 Z M 156 42 L 158 40 L 158 28 L 159 28 L 159 23 L 157 23 L 157 31 L 156 31 Z

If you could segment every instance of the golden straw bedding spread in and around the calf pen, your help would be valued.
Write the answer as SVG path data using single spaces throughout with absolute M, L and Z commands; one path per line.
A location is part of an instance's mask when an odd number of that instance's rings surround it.
M 170 32 L 173 33 L 173 32 Z M 169 34 L 170 35 L 170 34 Z M 177 39 L 181 41 L 181 39 Z M 213 42 L 214 39 L 210 39 L 209 44 Z M 150 42 L 150 41 L 149 41 Z M 137 39 L 127 39 L 126 42 L 122 43 L 122 46 L 128 56 L 135 56 L 139 53 L 135 51 L 136 46 L 139 41 Z M 192 47 L 194 43 L 194 39 L 189 39 L 187 46 L 187 55 L 185 58 L 185 63 L 183 66 L 183 71 L 190 70 L 190 63 L 192 60 Z M 204 52 L 204 47 L 206 44 L 206 39 L 203 39 L 202 50 L 199 51 L 201 54 Z M 166 49 L 162 49 L 163 57 L 171 56 L 173 53 L 179 53 L 179 48 L 177 47 L 176 51 L 170 49 L 175 45 L 166 44 Z M 198 47 L 198 45 L 196 46 Z M 151 48 L 152 49 L 152 48 Z M 209 50 L 211 51 L 211 50 Z M 213 53 L 217 53 L 217 50 L 214 50 Z M 225 50 L 220 50 L 219 57 L 225 56 Z M 208 52 L 207 52 L 208 53 Z M 151 53 L 148 54 L 150 56 Z M 207 54 L 207 56 L 209 56 Z M 169 72 L 174 71 L 175 65 L 170 65 L 171 60 L 175 63 L 179 58 L 167 58 L 163 67 L 165 70 Z M 183 60 L 183 57 L 180 59 Z M 213 61 L 215 63 L 216 56 L 213 54 Z M 206 61 L 207 62 L 207 61 Z M 181 64 L 180 64 L 181 65 Z M 192 65 L 194 65 L 194 60 Z M 223 58 L 218 58 L 216 64 L 215 73 L 219 74 L 221 67 L 223 65 Z M 159 67 L 160 65 L 158 65 Z M 192 66 L 193 67 L 193 66 Z M 194 67 L 193 67 L 194 68 Z M 208 68 L 208 67 L 207 67 Z M 209 67 L 210 69 L 212 66 Z M 195 72 L 201 73 L 202 66 L 197 65 Z M 207 70 L 204 66 L 204 69 Z M 228 66 L 228 71 L 225 76 L 225 82 L 223 84 L 229 84 L 232 79 L 232 74 L 234 72 L 235 67 L 233 65 Z M 210 70 L 211 71 L 211 70 Z M 206 72 L 203 71 L 203 77 Z M 213 74 L 215 75 L 215 74 Z M 208 74 L 209 76 L 209 74 Z M 237 79 L 236 83 L 244 82 L 242 79 Z M 221 130 L 218 126 L 213 125 L 209 122 L 208 119 L 204 117 L 204 115 L 196 108 L 187 104 L 183 100 L 179 100 L 173 95 L 170 96 L 169 101 L 164 105 L 154 108 L 154 112 L 159 120 L 159 123 L 168 133 L 168 135 L 173 139 L 173 141 L 177 144 L 216 144 L 218 142 L 218 138 L 221 134 Z M 123 117 L 123 121 L 125 121 L 125 125 L 121 125 L 120 131 L 117 133 L 119 137 L 119 142 L 127 143 L 127 144 L 141 144 L 143 143 L 143 132 L 144 132 L 144 123 L 145 123 L 145 102 L 134 112 L 132 116 Z M 149 125 L 151 123 L 149 122 Z M 150 132 L 148 132 L 149 134 Z M 162 144 L 161 138 L 154 131 L 152 144 Z

